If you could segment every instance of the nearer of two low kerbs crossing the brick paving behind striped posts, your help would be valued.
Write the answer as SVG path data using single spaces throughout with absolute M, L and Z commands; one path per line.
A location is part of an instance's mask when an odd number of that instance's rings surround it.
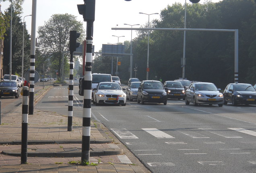
M 21 149 L 2 151 L 4 155 L 21 157 Z M 123 155 L 122 149 L 91 148 L 90 156 Z M 55 148 L 55 149 L 28 149 L 27 157 L 81 157 L 82 150 L 79 148 Z

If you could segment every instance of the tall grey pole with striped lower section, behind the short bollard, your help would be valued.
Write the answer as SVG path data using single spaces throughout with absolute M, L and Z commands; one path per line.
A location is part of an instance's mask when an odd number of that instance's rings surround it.
M 29 84 L 30 84 L 29 115 L 34 114 L 36 7 L 37 7 L 37 0 L 33 0 L 32 1 L 32 22 L 31 22 L 30 75 L 29 75 Z

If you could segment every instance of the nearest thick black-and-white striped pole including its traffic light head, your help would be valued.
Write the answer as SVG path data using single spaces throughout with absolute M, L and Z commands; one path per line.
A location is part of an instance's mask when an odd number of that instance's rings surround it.
M 92 52 L 93 52 L 93 22 L 95 20 L 95 0 L 84 0 L 85 4 L 77 5 L 79 14 L 83 15 L 87 22 L 86 30 L 86 56 L 85 74 L 83 81 L 83 133 L 82 133 L 82 156 L 81 163 L 90 158 L 90 135 L 91 135 L 91 84 L 92 84 Z M 85 53 L 85 52 L 83 52 Z

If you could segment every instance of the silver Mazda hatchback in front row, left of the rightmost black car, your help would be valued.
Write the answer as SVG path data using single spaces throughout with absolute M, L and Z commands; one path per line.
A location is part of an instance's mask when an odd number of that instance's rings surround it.
M 223 106 L 223 94 L 220 93 L 215 84 L 209 82 L 194 82 L 191 83 L 185 91 L 185 103 L 193 103 L 194 106 L 198 104 L 218 104 L 219 107 Z

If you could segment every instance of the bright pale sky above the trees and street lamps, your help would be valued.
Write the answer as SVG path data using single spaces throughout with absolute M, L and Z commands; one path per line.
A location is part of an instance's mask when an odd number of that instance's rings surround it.
M 219 2 L 220 0 L 209 0 L 211 2 Z M 141 25 L 145 25 L 148 20 L 160 19 L 159 14 L 161 10 L 168 5 L 175 2 L 185 3 L 185 0 L 96 0 L 95 4 L 95 21 L 93 23 L 93 45 L 95 45 L 95 52 L 99 51 L 102 44 L 115 44 L 118 42 L 124 42 L 125 40 L 131 40 L 130 30 L 111 30 L 111 28 L 130 28 L 131 26 L 124 24 L 140 24 L 139 26 L 133 26 L 133 28 L 139 28 Z M 206 0 L 200 0 L 199 3 L 204 3 Z M 77 20 L 83 22 L 83 16 L 78 13 L 77 4 L 84 4 L 83 0 L 36 0 L 36 28 L 43 26 L 47 20 L 51 18 L 53 14 L 72 14 L 77 16 Z M 186 0 L 186 3 L 191 3 Z M 10 2 L 2 2 L 1 10 L 4 12 L 10 5 Z M 146 14 L 139 14 L 139 12 L 150 15 L 150 19 Z M 32 14 L 32 0 L 25 0 L 23 3 L 24 16 Z M 27 24 L 27 30 L 31 34 L 31 16 L 25 17 Z M 86 22 L 83 22 L 83 26 L 86 30 Z M 115 35 L 115 36 L 112 36 Z M 136 31 L 132 31 L 132 38 L 136 37 Z

